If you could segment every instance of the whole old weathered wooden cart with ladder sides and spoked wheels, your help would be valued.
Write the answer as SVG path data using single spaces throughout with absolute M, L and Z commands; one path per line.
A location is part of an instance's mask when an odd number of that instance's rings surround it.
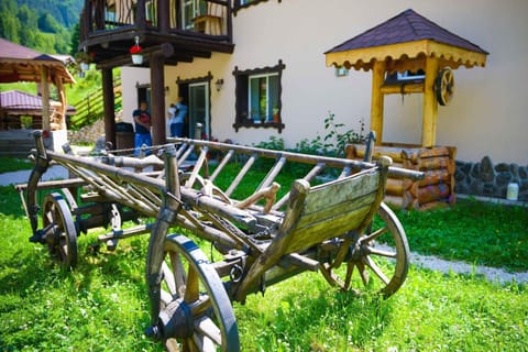
M 33 230 L 31 240 L 47 245 L 61 264 L 74 266 L 77 237 L 89 228 L 111 227 L 100 241 L 112 246 L 123 238 L 150 232 L 146 333 L 167 350 L 238 351 L 231 302 L 243 302 L 249 294 L 264 293 L 267 286 L 306 271 L 320 272 L 343 290 L 373 290 L 384 297 L 406 278 L 405 231 L 382 199 L 387 175 L 422 175 L 392 168 L 388 157 L 372 164 L 172 140 L 156 147 L 163 155 L 156 162 L 155 156 L 58 154 L 44 148 L 40 133 L 35 141 L 35 167 L 28 185 L 19 187 Z M 194 166 L 182 170 L 190 155 L 196 156 Z M 251 173 L 258 161 L 266 160 L 271 166 L 257 179 L 256 189 L 235 199 L 245 182 L 255 182 Z M 40 183 L 55 163 L 77 178 Z M 138 172 L 145 165 L 161 170 Z M 226 172 L 233 166 L 235 173 Z M 277 182 L 285 166 L 306 173 L 280 187 Z M 219 187 L 226 175 L 234 176 L 227 187 Z M 51 188 L 59 190 L 45 195 L 41 206 L 37 194 Z M 120 228 L 123 218 L 136 217 L 155 220 L 151 226 Z M 212 243 L 215 260 L 182 229 Z

